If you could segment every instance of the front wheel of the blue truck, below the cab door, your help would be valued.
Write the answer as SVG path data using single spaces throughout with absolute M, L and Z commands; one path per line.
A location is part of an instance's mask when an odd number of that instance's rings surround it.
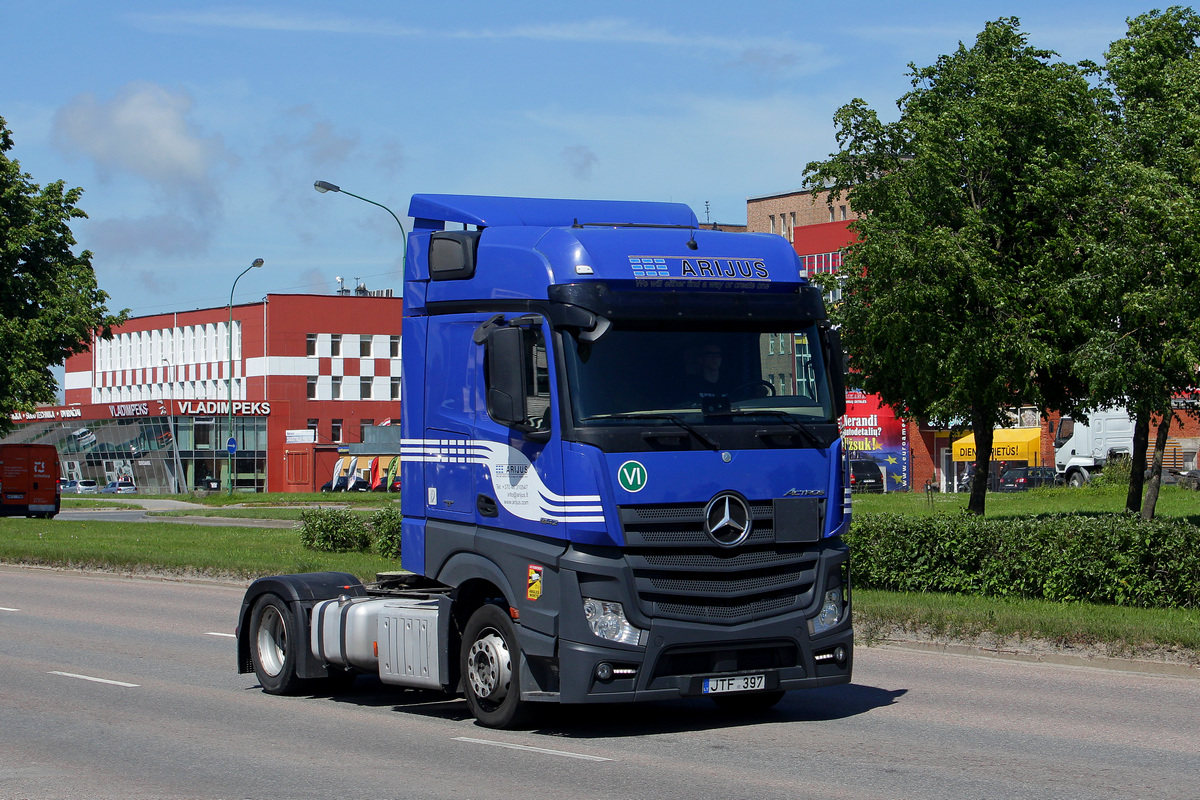
M 462 634 L 463 691 L 480 724 L 516 728 L 529 716 L 521 700 L 521 644 L 512 620 L 491 603 L 470 615 Z

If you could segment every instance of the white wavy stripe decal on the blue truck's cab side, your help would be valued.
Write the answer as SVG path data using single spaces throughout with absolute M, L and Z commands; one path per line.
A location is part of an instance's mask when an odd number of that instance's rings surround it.
M 558 494 L 541 481 L 524 453 L 509 445 L 482 439 L 401 439 L 406 462 L 480 464 L 496 499 L 505 510 L 530 522 L 604 522 L 599 494 Z

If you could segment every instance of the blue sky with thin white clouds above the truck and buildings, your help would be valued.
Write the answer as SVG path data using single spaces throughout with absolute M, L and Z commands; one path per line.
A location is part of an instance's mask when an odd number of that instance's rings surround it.
M 155 0 L 0 5 L 0 116 L 38 184 L 82 186 L 112 309 L 401 289 L 380 209 L 418 192 L 674 200 L 745 221 L 798 188 L 854 97 L 884 116 L 984 23 L 1103 60 L 1152 5 Z M 708 211 L 706 211 L 708 204 Z

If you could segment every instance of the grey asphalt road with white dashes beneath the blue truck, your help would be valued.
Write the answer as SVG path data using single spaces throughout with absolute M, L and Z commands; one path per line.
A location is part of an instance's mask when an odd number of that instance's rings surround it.
M 360 678 L 264 694 L 242 587 L 0 566 L 0 798 L 1196 798 L 1200 680 L 859 649 L 758 718 L 702 699 L 481 728 Z

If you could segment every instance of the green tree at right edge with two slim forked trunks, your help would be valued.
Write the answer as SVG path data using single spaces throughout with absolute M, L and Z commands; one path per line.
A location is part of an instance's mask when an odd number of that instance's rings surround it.
M 1097 206 L 1097 275 L 1105 300 L 1075 354 L 1094 404 L 1128 403 L 1134 469 L 1126 509 L 1154 516 L 1174 411 L 1200 365 L 1200 17 L 1153 11 L 1106 53 L 1117 100 L 1108 201 Z M 1152 417 L 1159 419 L 1142 501 Z

